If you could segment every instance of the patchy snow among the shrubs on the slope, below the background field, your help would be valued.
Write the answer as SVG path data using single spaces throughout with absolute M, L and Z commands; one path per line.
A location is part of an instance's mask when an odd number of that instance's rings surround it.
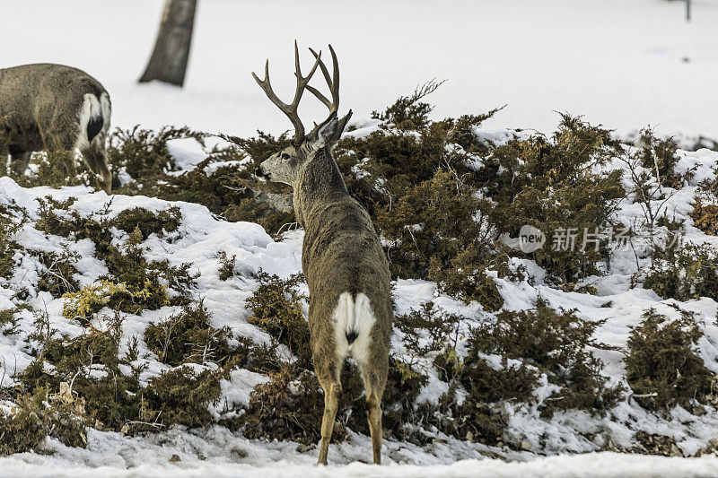
M 489 132 L 490 133 L 490 132 Z M 495 131 L 494 131 L 495 133 Z M 481 131 L 478 134 L 482 134 Z M 487 133 L 488 134 L 488 133 Z M 679 152 L 681 160 L 677 166 L 685 171 L 694 166 L 696 175 L 690 184 L 675 192 L 666 209 L 676 214 L 677 220 L 686 221 L 686 236 L 690 241 L 709 243 L 718 246 L 718 237 L 706 236 L 692 226 L 689 217 L 691 202 L 698 181 L 714 178 L 713 167 L 718 164 L 718 152 L 701 150 L 699 152 Z M 188 161 L 192 163 L 194 161 Z M 219 280 L 218 269 L 221 266 L 220 252 L 237 257 L 237 267 L 241 271 L 256 271 L 259 267 L 269 274 L 288 276 L 301 269 L 302 232 L 288 234 L 281 242 L 273 241 L 257 224 L 250 222 L 228 223 L 215 219 L 205 206 L 189 203 L 169 203 L 160 199 L 143 196 L 114 196 L 109 206 L 109 196 L 94 192 L 87 187 L 64 187 L 56 190 L 49 187 L 26 189 L 18 187 L 10 178 L 0 178 L 0 204 L 14 200 L 24 207 L 31 222 L 37 218 L 37 199 L 51 195 L 56 199 L 77 197 L 70 206 L 83 216 L 109 211 L 109 217 L 132 207 L 143 207 L 151 211 L 166 209 L 177 205 L 182 214 L 179 230 L 164 238 L 151 235 L 144 241 L 148 248 L 148 259 L 168 259 L 171 265 L 184 262 L 192 263 L 193 272 L 197 272 L 195 298 L 204 298 L 205 304 L 213 314 L 213 326 L 229 326 L 234 335 L 250 336 L 256 342 L 267 340 L 267 335 L 247 323 L 250 311 L 245 300 L 257 287 L 257 282 L 247 274 L 235 276 L 223 282 Z M 626 223 L 640 215 L 636 204 L 626 201 L 618 212 L 618 218 Z M 124 242 L 127 233 L 115 230 L 116 240 Z M 18 243 L 28 248 L 47 251 L 59 251 L 63 244 L 70 250 L 83 255 L 77 265 L 80 273 L 76 278 L 81 284 L 95 281 L 107 270 L 101 261 L 92 256 L 92 244 L 89 239 L 74 241 L 57 236 L 45 235 L 35 230 L 30 223 L 15 237 Z M 600 326 L 595 337 L 600 342 L 617 347 L 626 346 L 630 327 L 642 320 L 646 309 L 656 309 L 668 317 L 679 317 L 680 309 L 695 313 L 705 336 L 698 343 L 705 365 L 718 371 L 718 326 L 714 317 L 718 313 L 718 303 L 702 298 L 678 302 L 661 300 L 653 291 L 644 290 L 640 285 L 631 287 L 631 274 L 635 273 L 635 258 L 632 252 L 617 253 L 606 276 L 596 277 L 592 285 L 598 295 L 565 292 L 550 287 L 542 279 L 542 271 L 533 262 L 519 261 L 534 276 L 533 282 L 510 282 L 496 278 L 495 281 L 504 299 L 504 309 L 531 309 L 539 297 L 547 300 L 554 308 L 576 309 L 577 313 L 589 320 L 609 320 Z M 13 307 L 11 299 L 15 291 L 25 289 L 30 292 L 28 303 L 35 309 L 47 310 L 51 326 L 59 334 L 76 336 L 82 333 L 82 327 L 76 322 L 62 317 L 63 299 L 53 299 L 47 292 L 36 292 L 39 279 L 39 266 L 35 260 L 26 256 L 22 267 L 16 269 L 9 281 L 0 282 L 0 309 Z M 398 313 L 407 313 L 421 304 L 433 301 L 436 307 L 450 313 L 466 317 L 469 323 L 479 323 L 491 319 L 477 303 L 465 305 L 448 296 L 439 294 L 432 282 L 399 280 L 395 289 L 395 302 Z M 127 315 L 123 320 L 123 347 L 132 335 L 141 339 L 144 327 L 150 321 L 168 317 L 176 309 L 164 307 L 155 311 L 145 311 L 142 315 Z M 109 313 L 109 309 L 106 310 Z M 101 314 L 100 314 L 101 315 Z M 26 336 L 32 329 L 32 314 L 23 312 L 20 321 L 20 333 L 0 335 L 0 359 L 8 373 L 4 374 L 4 385 L 12 383 L 14 373 L 24 369 L 32 360 L 25 346 Z M 96 328 L 103 327 L 101 320 L 93 322 Z M 170 367 L 157 361 L 140 340 L 140 356 L 144 357 L 148 368 L 141 379 L 158 375 Z M 399 353 L 401 344 L 394 337 L 393 347 Z M 624 380 L 625 371 L 622 353 L 618 351 L 596 351 L 606 363 L 605 373 L 613 383 Z M 545 379 L 545 378 L 544 378 Z M 247 404 L 252 387 L 266 378 L 249 372 L 235 370 L 229 380 L 222 384 L 223 399 L 215 413 L 223 413 L 224 406 Z M 443 384 L 445 386 L 445 384 Z M 544 387 L 545 388 L 545 387 Z M 442 393 L 442 383 L 430 379 L 419 400 L 434 400 Z M 539 387 L 537 395 L 541 395 Z M 547 394 L 543 394 L 547 395 Z M 540 396 L 538 400 L 542 400 Z M 670 436 L 675 439 L 680 453 L 690 456 L 716 438 L 718 430 L 718 412 L 714 407 L 706 406 L 707 413 L 696 416 L 681 407 L 674 408 L 670 416 L 660 418 L 637 406 L 630 398 L 618 404 L 605 415 L 591 416 L 588 413 L 569 411 L 556 413 L 551 419 L 540 417 L 535 405 L 504 404 L 503 412 L 507 417 L 504 436 L 510 436 L 515 442 L 521 442 L 521 448 L 540 450 L 541 454 L 561 454 L 566 452 L 590 453 L 612 443 L 617 448 L 638 446 L 636 431 L 649 434 Z M 592 437 L 592 438 L 589 438 Z M 188 475 L 211 473 L 220 476 L 242 474 L 254 476 L 267 475 L 328 475 L 348 474 L 416 476 L 416 475 L 481 475 L 486 476 L 609 476 L 618 474 L 641 474 L 658 476 L 674 474 L 680 476 L 710 476 L 718 473 L 718 461 L 714 457 L 701 459 L 662 459 L 643 456 L 617 456 L 598 454 L 590 456 L 557 456 L 541 458 L 530 451 L 512 451 L 509 448 L 490 448 L 467 441 L 451 439 L 437 435 L 433 443 L 419 447 L 406 442 L 391 439 L 385 441 L 385 462 L 390 465 L 377 470 L 363 462 L 368 457 L 369 439 L 362 435 L 351 434 L 350 438 L 330 449 L 330 461 L 339 468 L 317 468 L 311 466 L 316 449 L 302 450 L 291 442 L 265 442 L 248 440 L 241 433 L 232 433 L 221 427 L 208 430 L 173 429 L 149 437 L 128 438 L 119 433 L 91 430 L 88 435 L 88 447 L 66 448 L 57 441 L 48 440 L 43 454 L 22 453 L 10 458 L 0 459 L 0 475 L 10 473 L 20 475 L 78 475 L 109 474 L 117 476 L 162 476 L 177 474 L 180 471 Z M 50 452 L 48 454 L 48 451 Z M 171 456 L 180 457 L 180 462 L 170 461 Z M 526 464 L 505 464 L 505 459 Z M 455 463 L 459 460 L 460 463 Z M 468 460 L 468 461 L 466 461 Z M 399 466 L 400 465 L 400 466 Z M 421 465 L 421 468 L 417 468 Z M 103 468 L 95 469 L 95 467 Z M 595 466 L 586 470 L 584 466 Z M 57 470 L 62 469 L 60 474 Z

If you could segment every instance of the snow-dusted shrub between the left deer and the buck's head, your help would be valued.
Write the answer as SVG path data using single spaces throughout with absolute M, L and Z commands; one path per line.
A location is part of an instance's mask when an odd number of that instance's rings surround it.
M 261 200 L 259 191 L 267 188 L 283 194 L 287 187 L 262 185 L 251 176 L 260 161 L 288 143 L 287 135 L 275 138 L 258 131 L 253 138 L 243 139 L 219 135 L 229 142 L 215 146 L 207 152 L 205 161 L 183 174 L 167 174 L 176 169 L 167 149 L 167 142 L 178 138 L 194 138 L 204 146 L 206 134 L 164 126 L 159 132 L 136 126 L 129 130 L 117 130 L 109 139 L 108 154 L 114 170 L 126 169 L 134 179 L 125 186 L 115 185 L 119 194 L 160 197 L 168 201 L 187 201 L 204 204 L 228 221 L 258 222 L 267 231 L 276 232 L 287 222 L 293 222 L 293 212 L 275 210 Z M 249 156 L 249 159 L 248 159 Z M 222 166 L 212 174 L 205 169 L 215 161 L 240 161 L 240 165 Z M 128 222 L 130 227 L 132 222 Z M 170 231 L 168 229 L 168 231 Z

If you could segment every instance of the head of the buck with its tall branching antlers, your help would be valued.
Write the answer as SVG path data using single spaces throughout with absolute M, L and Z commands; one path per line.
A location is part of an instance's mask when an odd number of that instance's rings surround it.
M 334 53 L 334 48 L 331 48 L 331 45 L 329 45 L 329 51 L 331 52 L 334 65 L 333 75 L 329 75 L 327 65 L 324 65 L 324 62 L 321 61 L 321 52 L 317 53 L 311 48 L 310 51 L 316 60 L 309 74 L 302 76 L 302 70 L 299 65 L 299 49 L 297 48 L 297 42 L 294 41 L 294 64 L 296 67 L 297 87 L 294 92 L 294 100 L 290 104 L 279 100 L 275 92 L 272 91 L 272 86 L 269 83 L 269 60 L 267 60 L 265 65 L 264 80 L 259 80 L 257 74 L 252 73 L 252 76 L 254 76 L 254 79 L 262 90 L 265 91 L 269 100 L 289 117 L 289 120 L 294 126 L 292 144 L 281 152 L 270 156 L 267 161 L 262 162 L 255 170 L 255 175 L 260 180 L 280 182 L 294 186 L 299 171 L 315 158 L 317 152 L 325 151 L 327 148 L 331 149 L 331 147 L 339 141 L 346 127 L 346 123 L 352 116 L 352 112 L 349 111 L 346 117 L 342 117 L 341 119 L 337 117 L 337 110 L 339 109 L 339 64 L 337 63 L 337 55 Z M 317 70 L 317 66 L 321 68 L 321 73 L 324 74 L 324 78 L 328 83 L 329 91 L 331 91 L 331 100 L 328 100 L 319 90 L 309 84 L 311 76 Z M 314 126 L 314 129 L 311 130 L 309 135 L 304 135 L 304 125 L 297 113 L 304 90 L 311 91 L 311 93 L 329 109 L 327 119 L 319 125 Z M 321 157 L 331 160 L 329 154 L 321 155 Z

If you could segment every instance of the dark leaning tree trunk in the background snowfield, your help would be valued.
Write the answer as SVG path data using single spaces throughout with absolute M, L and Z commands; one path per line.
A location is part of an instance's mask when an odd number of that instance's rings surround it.
M 185 83 L 196 10 L 197 0 L 165 0 L 160 31 L 140 83 Z

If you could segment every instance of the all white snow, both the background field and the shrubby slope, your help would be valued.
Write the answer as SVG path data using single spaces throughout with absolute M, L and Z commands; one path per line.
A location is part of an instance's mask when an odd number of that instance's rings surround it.
M 494 143 L 525 137 L 532 131 L 517 132 L 515 128 L 550 132 L 559 119 L 556 110 L 583 114 L 592 123 L 617 128 L 621 135 L 650 123 L 661 134 L 718 137 L 714 116 L 718 106 L 714 88 L 718 1 L 694 0 L 693 4 L 694 21 L 687 23 L 682 2 L 659 0 L 456 1 L 441 7 L 428 0 L 366 0 L 341 6 L 318 0 L 312 8 L 280 0 L 271 12 L 258 0 L 202 0 L 185 89 L 136 84 L 152 48 L 160 0 L 5 0 L 0 4 L 0 43 L 12 46 L 3 50 L 3 66 L 52 61 L 76 65 L 96 76 L 112 96 L 114 126 L 188 125 L 231 135 L 252 135 L 257 129 L 280 134 L 289 127 L 288 122 L 269 104 L 250 71 L 261 68 L 264 58 L 270 57 L 273 83 L 280 94 L 288 95 L 293 87 L 291 46 L 296 37 L 302 46 L 324 48 L 331 41 L 337 49 L 342 104 L 355 109 L 357 129 L 350 133 L 355 137 L 377 129 L 379 121 L 369 119 L 372 109 L 389 105 L 399 95 L 413 91 L 417 83 L 433 77 L 449 79 L 429 99 L 436 104 L 433 117 L 481 113 L 508 103 L 476 131 Z M 327 12 L 336 19 L 328 21 Z M 324 115 L 319 105 L 302 107 L 305 122 Z M 180 169 L 176 174 L 205 158 L 192 140 L 174 141 L 170 150 Z M 680 151 L 679 156 L 679 171 L 695 169 L 695 176 L 677 191 L 666 188 L 673 196 L 665 208 L 685 220 L 687 240 L 718 247 L 718 237 L 705 236 L 689 216 L 696 186 L 714 178 L 718 153 L 703 149 Z M 209 165 L 205 172 L 211 175 L 221 166 L 232 166 L 232 162 Z M 25 189 L 10 178 L 0 178 L 0 204 L 15 201 L 29 211 L 31 220 L 37 218 L 37 199 L 48 195 L 58 200 L 76 197 L 71 210 L 85 216 L 100 212 L 110 199 L 87 187 Z M 180 229 L 163 238 L 153 235 L 146 239 L 146 257 L 167 259 L 171 265 L 190 262 L 193 272 L 199 274 L 193 298 L 204 300 L 213 314 L 213 326 L 228 326 L 232 334 L 258 343 L 267 341 L 268 335 L 246 320 L 245 300 L 257 287 L 250 273 L 262 268 L 286 277 L 300 271 L 302 232 L 293 231 L 276 242 L 257 224 L 223 222 L 198 204 L 144 196 L 113 196 L 108 211 L 113 217 L 134 207 L 160 211 L 172 205 L 180 207 Z M 642 215 L 640 206 L 630 201 L 620 204 L 617 213 L 626 224 Z M 114 230 L 113 234 L 118 243 L 127 239 L 124 231 Z M 67 247 L 79 253 L 82 259 L 76 264 L 76 279 L 82 285 L 107 274 L 107 267 L 92 255 L 89 239 L 48 237 L 31 225 L 15 239 L 31 248 L 58 252 Z M 220 281 L 220 252 L 236 256 L 242 274 Z M 60 335 L 82 334 L 81 326 L 62 317 L 63 300 L 34 291 L 39 280 L 37 262 L 28 257 L 22 261 L 9 281 L 0 282 L 0 309 L 12 308 L 13 294 L 26 289 L 33 308 L 47 310 Z M 609 274 L 585 281 L 596 288 L 596 296 L 551 288 L 545 282 L 545 271 L 528 259 L 512 259 L 511 266 L 514 270 L 521 266 L 528 276 L 520 282 L 494 278 L 504 309 L 531 309 L 542 298 L 551 307 L 576 309 L 589 320 L 609 319 L 598 328 L 595 338 L 610 345 L 626 345 L 630 328 L 640 323 L 645 309 L 654 308 L 668 317 L 678 317 L 676 305 L 695 312 L 705 334 L 699 343 L 702 358 L 709 369 L 718 372 L 718 303 L 705 298 L 661 300 L 640 285 L 632 288 L 631 276 L 636 270 L 632 252 L 617 253 Z M 440 294 L 433 282 L 396 283 L 397 313 L 428 302 L 465 317 L 464 327 L 493 319 L 477 303 L 467 305 Z M 610 307 L 605 307 L 609 302 Z M 150 322 L 177 311 L 165 307 L 127 316 L 123 343 L 133 335 L 141 337 Z M 24 336 L 31 332 L 32 319 L 30 311 L 23 311 L 20 334 L 0 335 L 0 363 L 7 372 L 0 375 L 3 386 L 12 385 L 12 375 L 31 362 Z M 94 325 L 103 326 L 99 322 Z M 149 356 L 141 378 L 146 382 L 168 366 L 157 361 L 142 340 L 139 345 Z M 392 338 L 392 346 L 401 352 L 398 334 Z M 614 383 L 624 379 L 621 352 L 594 352 L 605 362 L 605 373 Z M 496 361 L 496 366 L 501 364 Z M 230 378 L 222 381 L 223 399 L 212 412 L 215 416 L 234 413 L 232 408 L 247 404 L 251 389 L 266 380 L 245 369 L 233 370 Z M 551 386 L 545 386 L 537 391 L 539 399 L 548 395 Z M 429 382 L 419 401 L 435 401 L 445 387 L 429 369 Z M 702 417 L 676 408 L 661 419 L 628 399 L 603 417 L 566 412 L 546 420 L 535 406 L 506 404 L 502 413 L 508 418 L 507 433 L 527 449 L 555 456 L 488 448 L 437 435 L 424 447 L 387 439 L 386 466 L 382 467 L 358 463 L 368 460 L 371 445 L 367 437 L 353 433 L 346 442 L 331 446 L 329 461 L 333 465 L 324 468 L 312 465 L 316 448 L 300 451 L 291 442 L 244 439 L 241 433 L 221 427 L 176 428 L 134 438 L 91 429 L 86 449 L 67 448 L 50 439 L 48 454 L 0 458 L 0 476 L 711 476 L 718 475 L 718 460 L 713 456 L 593 453 L 609 439 L 619 447 L 635 446 L 635 432 L 643 430 L 672 436 L 684 454 L 693 454 L 716 438 L 718 413 L 706 408 L 708 413 Z M 596 438 L 586 438 L 589 434 Z M 565 455 L 579 452 L 583 454 Z M 173 455 L 181 461 L 171 462 Z M 506 463 L 507 459 L 515 461 Z

